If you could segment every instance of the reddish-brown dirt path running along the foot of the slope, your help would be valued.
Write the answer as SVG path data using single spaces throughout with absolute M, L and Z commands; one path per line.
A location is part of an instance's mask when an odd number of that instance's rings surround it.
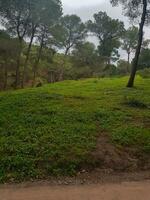
M 149 200 L 150 181 L 116 184 L 1 187 L 0 200 Z

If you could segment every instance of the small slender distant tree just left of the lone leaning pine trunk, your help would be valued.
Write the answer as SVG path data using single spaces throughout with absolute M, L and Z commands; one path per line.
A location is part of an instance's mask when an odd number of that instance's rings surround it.
M 129 27 L 125 34 L 123 35 L 122 49 L 125 50 L 128 54 L 128 69 L 130 65 L 130 56 L 136 50 L 138 41 L 138 28 L 135 26 Z

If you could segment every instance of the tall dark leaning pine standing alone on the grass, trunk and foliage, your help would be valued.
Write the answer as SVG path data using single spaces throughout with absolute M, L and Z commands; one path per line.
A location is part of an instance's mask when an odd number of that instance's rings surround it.
M 118 5 L 119 3 L 122 4 L 125 15 L 128 16 L 132 21 L 135 19 L 138 20 L 140 17 L 138 43 L 132 64 L 131 75 L 127 84 L 127 87 L 133 87 L 143 42 L 143 29 L 145 23 L 148 22 L 150 12 L 150 0 L 111 0 L 111 3 L 114 6 Z

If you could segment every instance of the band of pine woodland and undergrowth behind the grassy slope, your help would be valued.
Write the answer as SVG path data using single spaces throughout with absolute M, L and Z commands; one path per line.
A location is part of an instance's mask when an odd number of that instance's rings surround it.
M 114 6 L 117 3 L 112 1 Z M 141 5 L 137 5 L 132 16 L 129 11 L 134 3 L 129 9 L 125 6 L 125 14 L 136 21 L 127 28 L 102 11 L 86 22 L 75 14 L 64 15 L 59 0 L 1 0 L 0 90 L 125 76 L 132 72 L 137 59 L 136 71 L 149 77 L 150 41 L 142 38 L 139 44 L 140 15 L 135 14 L 137 10 L 142 13 Z M 146 24 L 146 17 L 145 21 Z M 92 43 L 92 38 L 97 42 Z M 134 59 L 137 47 L 140 55 Z M 123 51 L 124 59 L 120 58 Z

